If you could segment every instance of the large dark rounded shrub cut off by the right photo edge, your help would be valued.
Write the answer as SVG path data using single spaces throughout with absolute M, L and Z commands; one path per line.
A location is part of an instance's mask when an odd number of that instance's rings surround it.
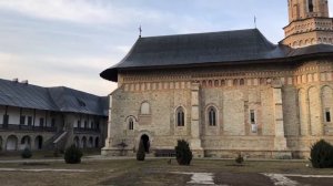
M 311 147 L 310 161 L 314 168 L 333 167 L 333 146 L 324 140 Z

